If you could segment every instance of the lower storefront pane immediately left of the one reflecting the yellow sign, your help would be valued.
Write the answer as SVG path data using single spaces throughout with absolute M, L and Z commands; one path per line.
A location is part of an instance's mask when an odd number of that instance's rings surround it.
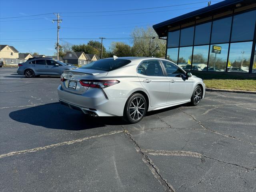
M 192 70 L 202 71 L 207 67 L 209 45 L 194 46 Z

